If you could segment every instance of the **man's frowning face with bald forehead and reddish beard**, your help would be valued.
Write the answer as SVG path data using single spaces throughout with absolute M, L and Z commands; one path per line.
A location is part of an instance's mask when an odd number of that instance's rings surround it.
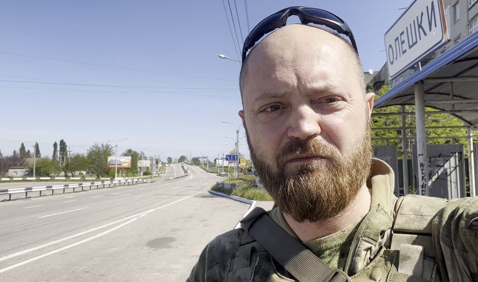
M 369 173 L 373 94 L 353 60 L 339 38 L 303 25 L 275 31 L 250 55 L 239 115 L 252 161 L 299 222 L 339 213 Z

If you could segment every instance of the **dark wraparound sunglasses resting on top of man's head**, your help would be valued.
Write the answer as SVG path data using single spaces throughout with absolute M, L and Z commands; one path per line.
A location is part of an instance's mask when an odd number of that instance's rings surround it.
M 247 55 L 247 51 L 252 48 L 262 36 L 276 28 L 285 26 L 287 24 L 287 18 L 291 15 L 298 16 L 300 22 L 303 24 L 315 23 L 325 25 L 340 34 L 346 35 L 350 39 L 357 54 L 359 53 L 352 30 L 340 17 L 326 10 L 293 6 L 282 9 L 264 18 L 249 32 L 249 35 L 247 35 L 244 40 L 244 46 L 242 47 L 242 62 Z

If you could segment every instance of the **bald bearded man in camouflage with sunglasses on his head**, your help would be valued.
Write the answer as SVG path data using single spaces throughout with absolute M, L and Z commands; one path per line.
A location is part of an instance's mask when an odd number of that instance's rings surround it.
M 284 26 L 290 14 L 332 31 Z M 478 281 L 478 199 L 393 195 L 392 170 L 372 158 L 374 94 L 364 91 L 355 40 L 340 18 L 279 11 L 251 31 L 242 61 L 239 116 L 277 207 L 209 243 L 188 281 Z M 264 217 L 273 226 L 257 223 Z M 291 251 L 277 225 L 305 251 Z M 316 258 L 322 269 L 309 280 Z

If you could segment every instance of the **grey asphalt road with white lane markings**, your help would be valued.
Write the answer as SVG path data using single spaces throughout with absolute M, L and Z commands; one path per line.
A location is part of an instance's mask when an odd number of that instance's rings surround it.
M 184 281 L 249 205 L 207 192 L 220 178 L 168 167 L 154 183 L 0 202 L 0 281 Z M 220 211 L 220 212 L 218 212 Z

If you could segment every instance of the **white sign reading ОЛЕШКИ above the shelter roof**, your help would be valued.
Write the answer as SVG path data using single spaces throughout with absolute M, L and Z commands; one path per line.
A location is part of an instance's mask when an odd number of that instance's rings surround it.
M 396 78 L 450 40 L 443 0 L 415 0 L 385 32 L 388 75 Z

